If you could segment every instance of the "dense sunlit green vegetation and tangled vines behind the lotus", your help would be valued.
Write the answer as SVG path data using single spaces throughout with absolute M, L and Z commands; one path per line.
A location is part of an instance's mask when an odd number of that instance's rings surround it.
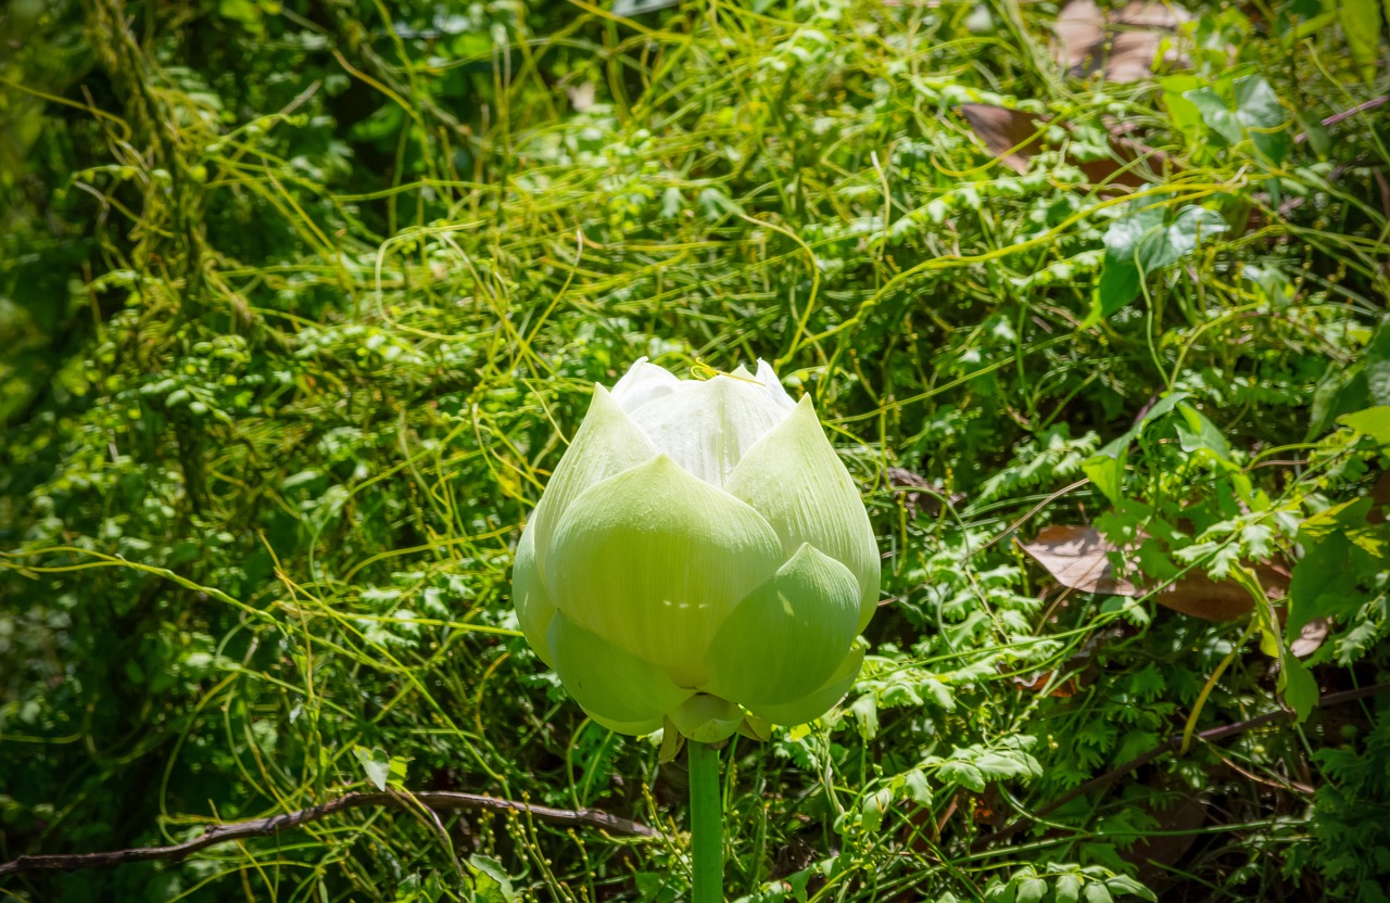
M 662 832 L 361 807 L 0 893 L 681 899 L 682 760 L 509 586 L 645 354 L 776 361 L 884 554 L 844 704 L 726 753 L 731 899 L 1384 900 L 1390 7 L 1069 71 L 1054 3 L 659 6 L 0 10 L 0 860 L 374 784 Z

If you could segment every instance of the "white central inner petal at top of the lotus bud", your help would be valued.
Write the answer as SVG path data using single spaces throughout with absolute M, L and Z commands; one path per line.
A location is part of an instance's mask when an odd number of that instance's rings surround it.
M 681 383 L 632 411 L 659 452 L 712 486 L 723 486 L 744 454 L 788 417 L 769 389 L 741 376 Z

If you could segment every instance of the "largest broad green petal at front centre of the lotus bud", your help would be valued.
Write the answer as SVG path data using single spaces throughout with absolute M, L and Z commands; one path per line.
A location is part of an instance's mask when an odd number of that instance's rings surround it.
M 552 550 L 560 611 L 691 689 L 724 618 L 784 558 L 758 511 L 664 454 L 575 499 Z

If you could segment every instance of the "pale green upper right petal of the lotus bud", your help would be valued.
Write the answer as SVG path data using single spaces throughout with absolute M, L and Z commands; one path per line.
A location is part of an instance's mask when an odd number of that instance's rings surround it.
M 859 582 L 858 629 L 869 624 L 878 604 L 878 546 L 810 396 L 802 396 L 791 417 L 748 450 L 724 490 L 767 518 L 785 554 L 809 542 L 849 568 Z

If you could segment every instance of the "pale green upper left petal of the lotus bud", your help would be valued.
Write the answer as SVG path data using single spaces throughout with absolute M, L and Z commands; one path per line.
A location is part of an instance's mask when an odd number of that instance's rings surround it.
M 531 515 L 531 525 L 535 527 L 535 561 L 543 579 L 549 581 L 548 564 L 555 531 L 574 500 L 589 486 L 655 456 L 656 447 L 641 428 L 623 413 L 607 389 L 595 385 L 589 413 L 584 415 L 584 422 Z

